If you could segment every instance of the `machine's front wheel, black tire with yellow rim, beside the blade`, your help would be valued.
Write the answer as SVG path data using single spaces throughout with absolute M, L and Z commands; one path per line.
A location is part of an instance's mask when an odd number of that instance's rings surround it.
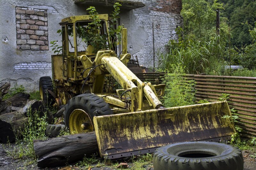
M 85 93 L 68 101 L 64 111 L 64 122 L 71 134 L 87 133 L 94 130 L 93 117 L 112 115 L 110 109 L 101 97 Z

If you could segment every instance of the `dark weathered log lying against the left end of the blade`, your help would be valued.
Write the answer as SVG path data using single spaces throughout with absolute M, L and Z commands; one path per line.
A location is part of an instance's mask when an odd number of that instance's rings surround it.
M 56 167 L 99 153 L 95 132 L 34 140 L 38 167 Z

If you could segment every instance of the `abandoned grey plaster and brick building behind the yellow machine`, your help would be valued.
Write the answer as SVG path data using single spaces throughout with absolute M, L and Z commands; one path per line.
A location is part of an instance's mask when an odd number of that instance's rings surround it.
M 42 76 L 52 76 L 50 41 L 58 41 L 60 21 L 73 15 L 86 15 L 94 6 L 100 14 L 111 14 L 115 0 L 2 0 L 0 33 L 0 81 L 38 90 Z M 118 0 L 117 0 L 118 2 Z M 128 52 L 140 65 L 153 67 L 153 24 L 155 53 L 176 37 L 182 26 L 181 0 L 125 0 L 119 24 L 128 30 Z M 158 59 L 155 59 L 157 64 Z

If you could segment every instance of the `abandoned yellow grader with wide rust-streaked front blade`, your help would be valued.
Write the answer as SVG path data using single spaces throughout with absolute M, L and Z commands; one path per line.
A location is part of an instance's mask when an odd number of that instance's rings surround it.
M 98 35 L 106 38 L 108 15 L 97 15 Z M 95 50 L 84 41 L 92 19 L 88 15 L 60 22 L 62 54 L 52 55 L 52 78 L 41 77 L 45 103 L 65 105 L 64 122 L 71 133 L 95 131 L 100 156 L 110 159 L 154 152 L 157 147 L 183 141 L 230 139 L 234 125 L 226 101 L 165 108 L 159 97 L 164 84 L 142 82 L 127 68 L 127 30 L 122 29 L 122 55 L 111 48 Z M 121 86 L 103 93 L 105 76 Z

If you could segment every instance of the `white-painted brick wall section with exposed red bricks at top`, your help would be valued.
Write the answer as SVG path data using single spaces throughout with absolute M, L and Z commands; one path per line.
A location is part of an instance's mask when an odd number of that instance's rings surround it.
M 145 12 L 141 9 L 134 10 L 136 17 L 135 24 L 140 24 L 148 33 L 148 39 L 144 42 L 144 47 L 137 55 L 141 65 L 153 67 L 153 30 L 154 22 L 154 41 L 155 41 L 155 67 L 161 62 L 160 55 L 167 53 L 166 44 L 170 39 L 177 39 L 175 29 L 183 25 L 180 16 L 181 0 L 157 0 L 153 3 L 150 0 L 143 0 L 146 4 Z

